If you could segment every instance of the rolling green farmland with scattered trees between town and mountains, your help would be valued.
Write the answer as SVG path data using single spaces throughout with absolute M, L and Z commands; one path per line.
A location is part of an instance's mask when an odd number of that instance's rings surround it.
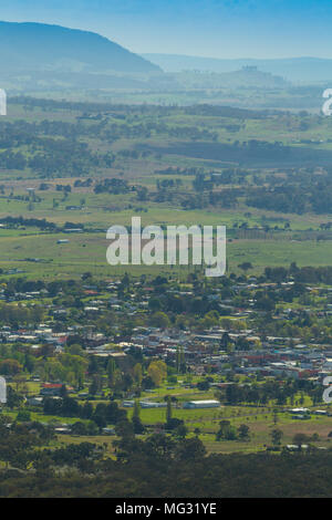
M 133 215 L 143 226 L 227 226 L 229 272 L 243 261 L 255 273 L 292 261 L 329 264 L 326 117 L 38 98 L 14 98 L 9 106 L 10 116 L 1 121 L 0 218 L 44 219 L 52 228 L 45 226 L 41 240 L 33 221 L 3 225 L 4 270 L 38 258 L 43 269 L 25 263 L 28 275 L 90 269 L 107 275 L 105 231 L 129 226 Z M 9 147 L 7 129 L 19 132 Z M 303 157 L 310 166 L 303 167 Z M 328 187 L 324 205 L 320 186 Z M 59 247 L 65 226 L 79 232 Z

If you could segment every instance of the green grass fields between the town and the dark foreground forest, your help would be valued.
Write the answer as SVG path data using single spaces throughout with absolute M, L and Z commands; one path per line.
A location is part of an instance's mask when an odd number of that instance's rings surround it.
M 193 382 L 196 381 L 193 377 Z M 13 384 L 13 383 L 11 383 Z M 14 384 L 13 384 L 14 385 Z M 40 389 L 39 382 L 27 382 L 29 394 L 38 394 Z M 175 384 L 169 388 L 168 383 L 163 384 L 154 392 L 145 392 L 141 399 L 163 402 L 166 395 L 176 396 L 178 402 L 184 401 L 205 401 L 214 398 L 214 391 L 198 392 L 193 388 Z M 295 396 L 294 405 L 298 406 L 300 394 Z M 96 405 L 98 402 L 94 401 Z M 121 405 L 121 403 L 120 403 Z M 301 406 L 312 408 L 312 403 L 309 397 L 304 398 Z M 330 447 L 331 441 L 329 434 L 332 431 L 332 417 L 317 416 L 311 414 L 309 420 L 292 419 L 291 414 L 283 412 L 291 407 L 288 403 L 283 407 L 277 407 L 277 416 L 273 413 L 276 405 L 268 403 L 264 407 L 257 406 L 229 406 L 220 405 L 219 408 L 198 408 L 198 409 L 184 409 L 176 403 L 172 406 L 172 416 L 183 419 L 188 430 L 188 436 L 198 435 L 206 446 L 208 453 L 253 453 L 264 450 L 267 446 L 271 446 L 271 431 L 274 428 L 281 429 L 283 433 L 282 445 L 293 444 L 295 434 L 305 434 L 312 437 L 314 434 L 319 436 L 318 440 L 311 441 L 317 447 Z M 315 408 L 323 408 L 331 410 L 326 405 L 317 406 Z M 127 416 L 131 419 L 133 416 L 133 408 L 126 408 Z M 15 419 L 18 409 L 4 410 L 12 420 Z M 41 423 L 59 423 L 59 424 L 73 424 L 81 420 L 76 417 L 61 417 L 44 415 L 42 410 L 31 412 L 31 419 Z M 159 427 L 166 422 L 166 408 L 141 408 L 141 420 L 146 426 L 147 430 L 143 438 L 154 431 L 158 431 Z M 229 420 L 232 426 L 238 428 L 245 424 L 250 428 L 249 440 L 216 440 L 216 434 L 219 429 L 220 420 Z M 85 420 L 83 420 L 85 422 Z M 114 425 L 108 425 L 114 426 Z M 58 435 L 56 439 L 52 441 L 52 446 L 61 446 L 71 443 L 91 441 L 97 445 L 103 445 L 106 449 L 105 456 L 114 456 L 113 441 L 115 436 L 97 435 L 97 436 L 73 436 L 73 435 Z

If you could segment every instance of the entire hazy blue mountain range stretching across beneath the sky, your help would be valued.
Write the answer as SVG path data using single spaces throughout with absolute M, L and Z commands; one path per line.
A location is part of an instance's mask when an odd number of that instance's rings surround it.
M 71 89 L 183 92 L 332 83 L 332 60 L 138 55 L 94 32 L 43 23 L 0 21 L 0 63 L 1 87 L 11 93 Z

